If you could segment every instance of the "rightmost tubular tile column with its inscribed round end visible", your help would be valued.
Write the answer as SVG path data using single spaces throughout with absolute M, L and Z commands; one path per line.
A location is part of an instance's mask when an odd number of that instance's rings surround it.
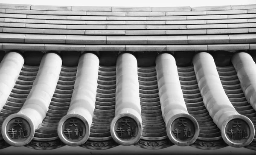
M 205 52 L 198 53 L 193 58 L 193 64 L 204 105 L 213 122 L 221 129 L 223 140 L 232 147 L 250 144 L 255 134 L 253 123 L 240 115 L 229 101 L 213 57 Z

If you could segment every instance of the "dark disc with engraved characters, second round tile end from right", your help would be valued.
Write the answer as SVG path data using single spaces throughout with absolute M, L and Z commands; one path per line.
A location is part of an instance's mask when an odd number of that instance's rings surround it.
M 177 118 L 171 125 L 171 134 L 177 140 L 189 141 L 195 135 L 195 126 L 188 118 Z

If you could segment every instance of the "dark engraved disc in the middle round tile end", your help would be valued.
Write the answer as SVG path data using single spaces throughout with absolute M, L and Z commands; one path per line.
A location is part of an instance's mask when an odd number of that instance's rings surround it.
M 116 121 L 116 136 L 122 140 L 132 140 L 138 135 L 138 125 L 130 117 L 122 117 Z

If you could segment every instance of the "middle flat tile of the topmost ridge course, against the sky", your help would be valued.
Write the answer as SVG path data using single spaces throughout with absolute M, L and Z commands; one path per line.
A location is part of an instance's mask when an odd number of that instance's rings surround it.
M 150 7 L 112 7 L 112 12 L 151 12 Z

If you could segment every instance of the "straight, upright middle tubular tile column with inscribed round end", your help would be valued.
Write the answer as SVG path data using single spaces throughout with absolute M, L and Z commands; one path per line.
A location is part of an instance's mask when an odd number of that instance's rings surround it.
M 116 110 L 111 135 L 125 146 L 137 143 L 142 136 L 137 59 L 128 53 L 120 54 L 116 61 Z

